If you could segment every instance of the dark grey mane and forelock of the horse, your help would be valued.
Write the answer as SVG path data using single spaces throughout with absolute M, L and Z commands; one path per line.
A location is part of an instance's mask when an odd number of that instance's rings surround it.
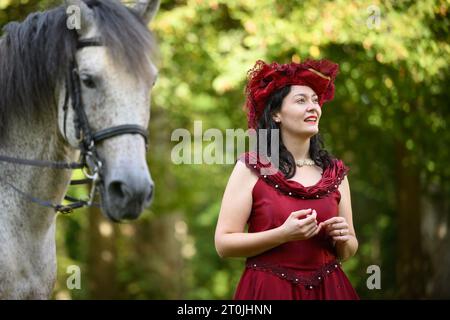
M 117 0 L 84 0 L 114 61 L 137 77 L 149 74 L 156 53 L 152 33 Z M 55 87 L 75 57 L 78 35 L 66 26 L 65 5 L 11 22 L 0 38 L 0 138 L 12 117 L 36 117 L 55 105 Z M 48 110 L 47 110 L 48 111 Z M 1 140 L 1 139 L 0 139 Z

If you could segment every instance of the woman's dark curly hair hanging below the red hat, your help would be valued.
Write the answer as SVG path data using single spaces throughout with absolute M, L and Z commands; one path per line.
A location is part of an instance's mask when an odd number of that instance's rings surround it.
M 266 150 L 268 152 L 268 156 L 270 156 L 270 150 L 272 150 L 270 131 L 279 129 L 279 124 L 273 120 L 272 116 L 274 113 L 278 112 L 281 109 L 283 99 L 289 94 L 290 91 L 291 86 L 285 86 L 270 95 L 267 99 L 264 112 L 258 120 L 258 126 L 256 128 L 257 146 L 260 146 L 260 143 L 264 143 L 264 141 L 260 142 L 259 139 L 262 137 L 266 137 Z M 261 129 L 268 130 L 267 135 L 260 135 L 259 130 Z M 295 159 L 291 152 L 284 145 L 281 135 L 279 146 L 279 169 L 287 179 L 292 178 L 295 174 L 296 169 Z M 332 154 L 325 150 L 322 137 L 319 133 L 311 137 L 309 156 L 315 162 L 315 164 L 321 167 L 323 170 L 331 166 L 333 160 L 335 159 Z

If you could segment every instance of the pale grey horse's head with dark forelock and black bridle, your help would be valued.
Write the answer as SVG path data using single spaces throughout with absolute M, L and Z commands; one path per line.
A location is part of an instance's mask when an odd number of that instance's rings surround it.
M 106 16 L 108 5 L 108 1 L 66 1 L 67 12 L 76 8 L 73 12 L 80 14 L 81 23 L 74 33 L 78 38 L 74 61 L 59 90 L 58 127 L 74 148 L 88 134 L 80 132 L 80 125 L 81 129 L 87 125 L 93 136 L 113 132 L 89 144 L 95 147 L 96 164 L 101 165 L 95 170 L 100 173 L 103 212 L 113 221 L 122 221 L 139 217 L 154 195 L 145 133 L 157 68 L 150 54 L 153 40 L 147 25 L 159 0 L 136 1 L 134 8 L 114 7 Z M 118 36 L 120 32 L 127 34 Z M 68 107 L 76 106 L 77 99 L 84 119 Z

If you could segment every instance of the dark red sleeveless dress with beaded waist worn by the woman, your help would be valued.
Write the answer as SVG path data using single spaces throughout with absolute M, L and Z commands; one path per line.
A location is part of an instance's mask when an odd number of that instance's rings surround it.
M 281 171 L 267 175 L 254 152 L 240 158 L 258 176 L 252 191 L 253 204 L 248 232 L 276 228 L 292 211 L 312 208 L 317 222 L 338 215 L 339 184 L 349 168 L 341 160 L 324 170 L 314 186 L 287 180 Z M 266 174 L 266 175 L 265 175 Z M 239 281 L 235 300 L 359 299 L 341 269 L 330 238 L 324 230 L 307 240 L 291 241 L 249 257 Z

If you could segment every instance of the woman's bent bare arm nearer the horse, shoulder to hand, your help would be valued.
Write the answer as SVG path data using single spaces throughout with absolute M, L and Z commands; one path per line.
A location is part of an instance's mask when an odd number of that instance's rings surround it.
M 220 257 L 255 256 L 287 241 L 310 238 L 320 231 L 316 214 L 300 220 L 300 216 L 312 213 L 311 210 L 300 210 L 292 212 L 280 227 L 246 233 L 252 190 L 257 181 L 256 174 L 244 163 L 236 163 L 225 188 L 216 227 L 215 245 Z

